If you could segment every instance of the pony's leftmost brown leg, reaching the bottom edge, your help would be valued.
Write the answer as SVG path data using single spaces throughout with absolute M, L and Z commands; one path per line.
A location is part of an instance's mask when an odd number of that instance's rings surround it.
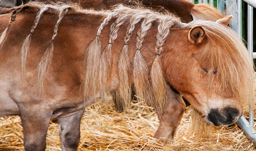
M 43 110 L 39 105 L 37 107 L 20 107 L 26 151 L 45 149 L 51 115 L 50 111 Z

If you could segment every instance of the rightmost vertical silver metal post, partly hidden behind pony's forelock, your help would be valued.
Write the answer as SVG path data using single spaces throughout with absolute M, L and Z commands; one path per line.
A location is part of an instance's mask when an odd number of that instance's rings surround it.
M 247 8 L 247 46 L 249 54 L 253 58 L 253 8 L 248 4 Z M 249 100 L 249 124 L 252 127 L 254 125 L 253 99 Z

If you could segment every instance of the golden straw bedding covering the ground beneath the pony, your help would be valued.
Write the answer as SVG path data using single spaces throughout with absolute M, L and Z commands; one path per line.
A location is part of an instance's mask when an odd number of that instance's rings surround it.
M 254 94 L 254 111 L 256 110 L 255 102 Z M 209 134 L 204 136 L 200 136 L 200 130 L 192 132 L 190 130 L 191 112 L 193 112 L 191 107 L 187 107 L 174 140 L 171 142 L 153 138 L 159 124 L 153 108 L 133 101 L 131 109 L 119 113 L 113 103 L 98 101 L 85 109 L 81 121 L 81 139 L 78 150 L 255 149 L 236 124 L 210 126 Z M 247 107 L 244 115 L 248 116 Z M 0 121 L 0 150 L 24 150 L 20 117 L 0 117 Z M 46 139 L 46 150 L 61 150 L 57 121 L 54 119 L 50 122 Z

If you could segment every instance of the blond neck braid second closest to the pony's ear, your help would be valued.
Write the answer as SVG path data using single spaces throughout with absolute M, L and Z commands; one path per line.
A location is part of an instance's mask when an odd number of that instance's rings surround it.
M 147 35 L 147 31 L 151 28 L 152 23 L 156 21 L 156 15 L 148 15 L 141 24 L 141 29 L 138 31 L 137 36 L 137 51 L 134 56 L 134 87 L 139 100 L 147 99 L 152 100 L 150 97 L 151 89 L 149 82 L 148 66 L 147 62 L 141 54 L 141 47 L 144 41 L 144 37 Z

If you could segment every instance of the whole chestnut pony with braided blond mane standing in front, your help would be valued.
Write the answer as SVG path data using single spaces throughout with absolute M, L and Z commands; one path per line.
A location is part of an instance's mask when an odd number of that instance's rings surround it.
M 157 138 L 173 138 L 180 94 L 209 123 L 232 124 L 252 98 L 253 65 L 230 18 L 185 24 L 122 6 L 15 8 L 0 15 L 0 116 L 21 117 L 26 150 L 44 150 L 57 117 L 62 149 L 76 150 L 84 108 L 113 92 L 129 106 L 134 85 L 158 114 Z

